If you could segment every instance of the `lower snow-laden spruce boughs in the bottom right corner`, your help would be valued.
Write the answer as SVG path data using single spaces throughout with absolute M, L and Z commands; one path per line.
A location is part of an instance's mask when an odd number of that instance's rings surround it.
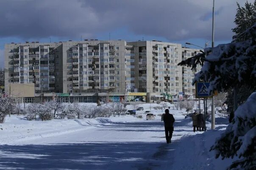
M 256 168 L 256 92 L 252 93 L 248 100 L 239 106 L 235 112 L 233 122 L 230 123 L 211 150 L 216 151 L 216 157 L 240 159 L 233 162 L 232 168 L 255 169 Z

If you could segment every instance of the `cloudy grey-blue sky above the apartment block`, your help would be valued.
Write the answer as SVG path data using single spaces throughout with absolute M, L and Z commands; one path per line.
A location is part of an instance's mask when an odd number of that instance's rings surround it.
M 215 45 L 232 39 L 236 2 L 245 0 L 215 0 Z M 212 0 L 0 0 L 0 67 L 11 42 L 108 40 L 110 33 L 111 39 L 204 46 L 211 16 Z

